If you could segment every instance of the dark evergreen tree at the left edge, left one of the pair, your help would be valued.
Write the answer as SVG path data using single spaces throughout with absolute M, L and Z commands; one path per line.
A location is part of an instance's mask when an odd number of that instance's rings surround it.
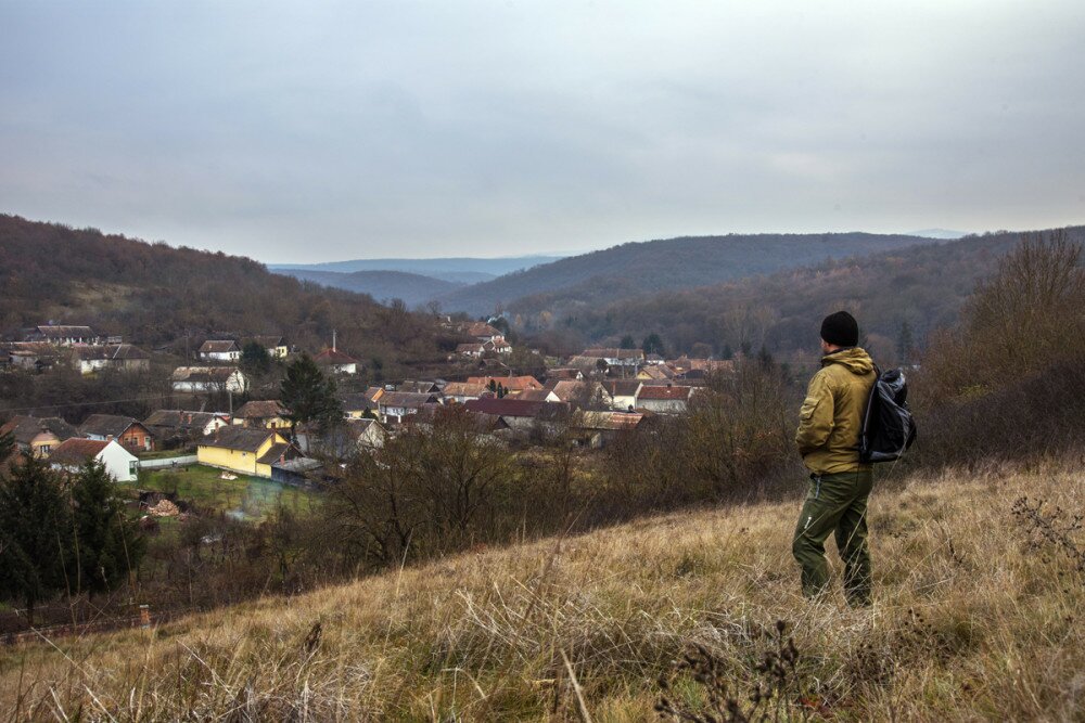
M 60 477 L 47 462 L 24 454 L 0 479 L 0 597 L 34 608 L 66 590 L 72 561 L 72 516 Z

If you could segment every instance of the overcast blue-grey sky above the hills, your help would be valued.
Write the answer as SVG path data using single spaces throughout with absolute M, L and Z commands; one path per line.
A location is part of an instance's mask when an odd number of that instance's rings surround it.
M 268 262 L 1082 223 L 1083 69 L 1081 0 L 0 0 L 0 210 Z

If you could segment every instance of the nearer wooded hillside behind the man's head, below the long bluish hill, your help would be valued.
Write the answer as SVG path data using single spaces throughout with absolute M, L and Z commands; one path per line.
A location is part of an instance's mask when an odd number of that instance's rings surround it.
M 1083 241 L 1085 227 L 1067 234 Z M 859 319 L 865 341 L 882 358 L 894 358 L 907 337 L 921 346 L 930 331 L 954 323 L 976 280 L 988 275 L 1021 237 L 968 236 L 610 304 L 528 297 L 509 311 L 527 331 L 549 330 L 574 348 L 624 335 L 639 344 L 654 332 L 668 351 L 719 354 L 743 346 L 756 351 L 762 344 L 784 353 L 815 348 L 820 319 L 845 308 Z

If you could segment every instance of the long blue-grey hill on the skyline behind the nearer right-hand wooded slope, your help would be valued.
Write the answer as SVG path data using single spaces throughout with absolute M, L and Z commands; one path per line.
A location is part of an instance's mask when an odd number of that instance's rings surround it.
M 930 238 L 870 233 L 756 234 L 666 238 L 622 244 L 510 273 L 438 298 L 447 310 L 488 313 L 525 296 L 533 308 L 607 304 L 618 298 L 703 286 Z

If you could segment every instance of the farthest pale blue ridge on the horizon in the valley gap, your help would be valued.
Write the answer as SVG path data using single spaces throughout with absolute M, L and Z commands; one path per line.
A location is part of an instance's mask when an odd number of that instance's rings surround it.
M 477 283 L 496 279 L 502 274 L 531 269 L 540 263 L 550 263 L 562 256 L 510 256 L 507 258 L 432 258 L 432 259 L 354 259 L 350 261 L 329 261 L 326 263 L 269 263 L 272 271 L 337 271 L 352 273 L 355 271 L 403 271 L 423 276 L 433 276 L 443 281 L 459 283 Z

